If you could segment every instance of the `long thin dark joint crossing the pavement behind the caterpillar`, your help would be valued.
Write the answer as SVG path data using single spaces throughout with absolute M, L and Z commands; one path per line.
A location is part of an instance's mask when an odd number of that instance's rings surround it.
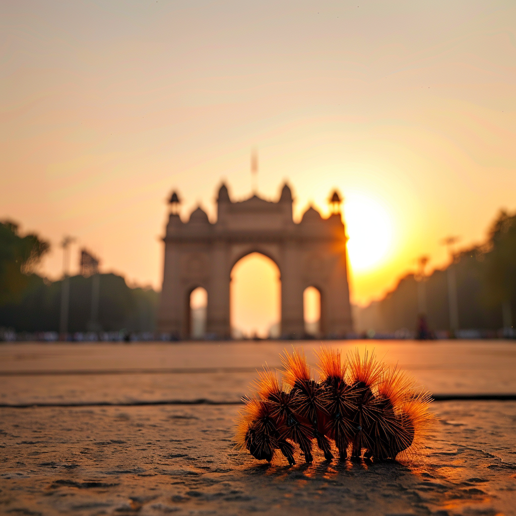
M 432 396 L 434 401 L 516 401 L 516 394 L 436 394 Z M 71 403 L 2 403 L 0 408 L 26 409 L 44 407 L 142 407 L 157 405 L 244 405 L 241 400 L 212 400 L 212 399 L 171 399 L 171 400 L 149 400 L 149 401 L 98 401 L 98 402 L 71 402 Z

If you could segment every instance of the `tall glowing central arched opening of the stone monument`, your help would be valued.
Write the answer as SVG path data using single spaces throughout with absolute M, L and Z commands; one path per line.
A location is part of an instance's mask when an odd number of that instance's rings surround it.
M 233 266 L 230 321 L 233 338 L 280 336 L 280 270 L 264 254 L 251 252 Z

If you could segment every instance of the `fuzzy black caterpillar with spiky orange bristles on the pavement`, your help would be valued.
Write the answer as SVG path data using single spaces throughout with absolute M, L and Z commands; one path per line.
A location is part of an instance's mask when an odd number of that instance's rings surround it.
M 243 398 L 235 441 L 257 460 L 270 462 L 281 453 L 296 463 L 296 446 L 305 462 L 316 445 L 325 460 L 395 460 L 421 448 L 433 415 L 431 395 L 397 367 L 378 362 L 358 350 L 344 361 L 341 351 L 315 351 L 318 381 L 312 378 L 304 352 L 280 354 L 283 378 L 268 367 Z

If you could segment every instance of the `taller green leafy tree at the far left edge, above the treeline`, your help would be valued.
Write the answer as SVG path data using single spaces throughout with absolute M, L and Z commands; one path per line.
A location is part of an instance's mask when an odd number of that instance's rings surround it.
M 0 306 L 22 300 L 35 266 L 49 249 L 38 235 L 20 236 L 18 224 L 0 222 Z

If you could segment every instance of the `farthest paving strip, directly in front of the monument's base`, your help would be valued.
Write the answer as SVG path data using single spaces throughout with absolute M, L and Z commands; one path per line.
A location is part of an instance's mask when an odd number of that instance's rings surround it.
M 337 347 L 343 354 L 375 351 L 379 359 L 411 371 L 509 369 L 516 365 L 516 341 L 230 341 L 146 343 L 2 343 L 0 372 L 114 371 L 261 368 L 281 365 L 279 353 L 301 347 Z

